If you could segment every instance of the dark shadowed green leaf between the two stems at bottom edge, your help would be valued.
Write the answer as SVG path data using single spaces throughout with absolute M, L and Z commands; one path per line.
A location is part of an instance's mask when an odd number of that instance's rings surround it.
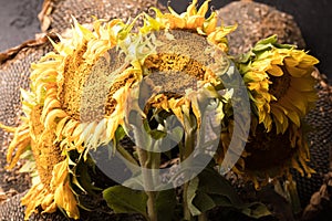
M 158 221 L 174 220 L 176 203 L 175 189 L 158 192 L 156 199 Z

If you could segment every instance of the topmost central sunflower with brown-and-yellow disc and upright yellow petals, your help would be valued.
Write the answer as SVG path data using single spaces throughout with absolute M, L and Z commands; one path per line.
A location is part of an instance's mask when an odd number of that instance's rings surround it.
M 215 91 L 212 87 L 221 84 L 220 76 L 204 65 L 205 57 L 201 52 L 206 50 L 207 42 L 227 52 L 226 35 L 237 28 L 217 27 L 216 12 L 211 12 L 206 19 L 208 4 L 209 1 L 205 1 L 197 9 L 197 0 L 194 0 L 181 14 L 176 13 L 170 7 L 169 13 L 162 13 L 158 9 L 152 8 L 155 18 L 144 14 L 144 25 L 139 29 L 137 38 L 141 41 L 124 45 L 124 48 L 136 45 L 134 54 L 142 66 L 142 80 L 153 82 L 152 87 L 163 85 L 163 92 L 166 92 L 151 97 L 147 106 L 172 110 L 183 124 L 184 113 L 189 113 L 189 109 L 193 109 L 197 117 L 198 126 L 200 124 L 197 99 L 199 96 L 196 94 L 198 87 L 209 96 L 219 97 L 212 92 Z M 142 41 L 144 38 L 148 40 Z M 133 54 L 129 49 L 125 51 Z M 219 59 L 224 61 L 224 70 L 220 73 L 224 74 L 229 67 L 229 60 L 226 54 Z

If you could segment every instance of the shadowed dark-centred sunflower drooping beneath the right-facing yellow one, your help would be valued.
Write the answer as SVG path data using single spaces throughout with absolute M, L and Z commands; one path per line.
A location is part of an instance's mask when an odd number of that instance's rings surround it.
M 311 177 L 315 172 L 307 165 L 310 152 L 305 134 L 292 122 L 284 133 L 279 134 L 274 125 L 267 133 L 262 124 L 256 124 L 251 128 L 245 151 L 243 165 L 235 168 L 235 171 L 245 180 L 252 181 L 256 189 L 282 177 L 292 180 L 291 168 L 301 176 Z

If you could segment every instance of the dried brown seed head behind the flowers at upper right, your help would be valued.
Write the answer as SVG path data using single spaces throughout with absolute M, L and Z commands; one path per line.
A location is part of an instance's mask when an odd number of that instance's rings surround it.
M 229 35 L 231 54 L 248 52 L 259 40 L 277 34 L 280 43 L 290 43 L 304 49 L 301 31 L 292 15 L 280 12 L 266 4 L 240 1 L 232 2 L 218 10 L 219 23 L 238 24 Z

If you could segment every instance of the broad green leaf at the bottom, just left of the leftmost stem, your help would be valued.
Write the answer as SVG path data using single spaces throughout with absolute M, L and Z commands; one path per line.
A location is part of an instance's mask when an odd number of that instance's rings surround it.
M 147 196 L 144 191 L 132 190 L 123 186 L 114 186 L 103 191 L 107 206 L 115 213 L 146 214 Z

